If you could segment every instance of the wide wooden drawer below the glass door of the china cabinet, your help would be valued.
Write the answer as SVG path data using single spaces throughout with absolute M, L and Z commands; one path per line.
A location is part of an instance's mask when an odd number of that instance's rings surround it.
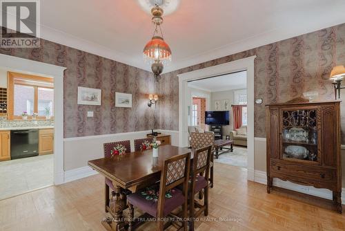
M 305 183 L 306 180 L 334 183 L 336 175 L 334 169 L 306 166 L 289 160 L 270 160 L 270 171 L 273 177 L 277 176 L 279 178 L 280 174 L 284 174 L 294 181 L 300 180 L 302 183 Z

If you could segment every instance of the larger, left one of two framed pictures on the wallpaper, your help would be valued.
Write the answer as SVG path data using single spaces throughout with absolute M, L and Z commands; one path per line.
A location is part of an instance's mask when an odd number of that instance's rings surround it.
M 78 86 L 77 104 L 81 105 L 101 105 L 102 90 L 90 89 L 88 87 Z

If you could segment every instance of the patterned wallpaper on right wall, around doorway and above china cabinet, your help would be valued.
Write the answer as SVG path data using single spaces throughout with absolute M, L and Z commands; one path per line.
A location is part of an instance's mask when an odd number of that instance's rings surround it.
M 224 64 L 236 59 L 257 55 L 255 59 L 255 137 L 266 137 L 265 104 L 286 102 L 306 91 L 318 91 L 319 100 L 332 100 L 333 85 L 328 80 L 333 66 L 345 64 L 345 24 L 300 35 L 241 53 L 182 68 L 161 77 L 158 91 L 160 129 L 178 130 L 178 78 L 177 75 L 197 69 Z M 343 92 L 342 98 L 345 98 Z M 342 127 L 345 105 L 342 103 Z M 342 131 L 344 133 L 344 130 Z M 345 138 L 343 136 L 343 143 Z

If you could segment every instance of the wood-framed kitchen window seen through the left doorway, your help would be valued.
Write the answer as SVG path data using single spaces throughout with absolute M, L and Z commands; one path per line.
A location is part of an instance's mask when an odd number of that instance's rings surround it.
M 8 119 L 54 116 L 54 82 L 52 78 L 21 73 L 8 73 Z

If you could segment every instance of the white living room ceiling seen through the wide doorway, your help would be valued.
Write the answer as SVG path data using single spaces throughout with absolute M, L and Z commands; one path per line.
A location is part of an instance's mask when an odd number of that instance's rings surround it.
M 210 77 L 204 80 L 188 82 L 189 87 L 208 92 L 230 91 L 247 88 L 247 72 L 241 71 L 228 75 Z

